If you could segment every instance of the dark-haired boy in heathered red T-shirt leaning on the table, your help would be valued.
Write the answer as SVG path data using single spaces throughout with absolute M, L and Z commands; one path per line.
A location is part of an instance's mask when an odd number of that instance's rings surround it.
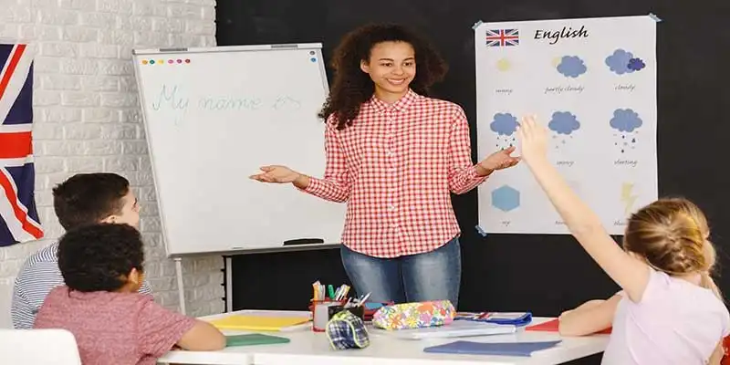
M 70 331 L 87 365 L 152 365 L 175 345 L 223 349 L 225 337 L 213 325 L 162 308 L 138 292 L 143 263 L 140 232 L 129 224 L 68 231 L 58 245 L 66 284 L 48 294 L 34 328 Z

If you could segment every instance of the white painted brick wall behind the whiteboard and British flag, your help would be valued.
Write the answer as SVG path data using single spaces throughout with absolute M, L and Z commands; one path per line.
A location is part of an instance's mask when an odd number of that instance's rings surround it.
M 215 45 L 214 0 L 0 0 L 0 40 L 36 47 L 36 203 L 47 235 L 63 230 L 51 188 L 75 172 L 118 172 L 142 205 L 147 273 L 156 299 L 178 308 L 164 255 L 131 49 Z M 0 248 L 0 282 L 38 245 Z M 187 312 L 223 311 L 223 259 L 183 260 Z

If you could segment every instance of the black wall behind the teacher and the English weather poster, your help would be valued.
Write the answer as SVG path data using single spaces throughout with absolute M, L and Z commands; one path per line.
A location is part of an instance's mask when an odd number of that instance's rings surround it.
M 701 3 L 701 4 L 700 4 Z M 660 0 L 219 0 L 217 40 L 221 45 L 321 42 L 331 55 L 339 38 L 368 22 L 400 22 L 420 30 L 441 49 L 450 64 L 434 96 L 464 107 L 472 124 L 475 147 L 474 33 L 478 20 L 539 20 L 568 17 L 638 16 L 653 13 L 658 24 L 659 192 L 683 195 L 699 204 L 713 224 L 721 265 L 730 240 L 730 122 L 723 103 L 730 32 L 725 31 L 730 3 L 723 0 L 668 2 Z M 331 78 L 331 69 L 328 75 Z M 481 157 L 481 156 L 480 156 Z M 474 154 L 474 161 L 477 156 Z M 591 298 L 608 297 L 616 287 L 568 235 L 488 235 L 474 232 L 476 192 L 454 196 L 454 209 L 464 231 L 464 272 L 460 309 L 532 310 L 558 315 Z M 617 240 L 620 237 L 616 237 Z M 261 268 L 279 267 L 259 283 L 235 286 L 235 307 L 306 308 L 311 278 L 343 276 L 339 255 L 271 254 L 241 256 L 234 275 L 249 276 Z M 296 264 L 295 279 L 288 265 Z M 306 264 L 306 265 L 305 265 Z M 257 266 L 258 265 L 258 266 Z M 720 287 L 730 292 L 730 276 Z M 244 280 L 239 280 L 244 283 Z M 290 291 L 266 298 L 269 287 L 287 284 Z M 245 287 L 244 287 L 245 286 Z M 499 295 L 495 295 L 499 293 Z M 276 300 L 276 303 L 274 301 Z

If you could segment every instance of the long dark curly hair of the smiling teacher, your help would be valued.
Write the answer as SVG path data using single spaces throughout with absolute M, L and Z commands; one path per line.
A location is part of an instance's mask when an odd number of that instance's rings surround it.
M 330 62 L 335 79 L 319 118 L 327 120 L 334 114 L 338 130 L 352 124 L 360 105 L 375 91 L 370 76 L 360 69 L 360 61 L 369 61 L 372 47 L 388 41 L 406 42 L 413 47 L 418 68 L 411 83 L 413 91 L 428 96 L 431 86 L 446 75 L 448 66 L 438 51 L 411 29 L 393 24 L 361 26 L 345 35 L 335 48 Z

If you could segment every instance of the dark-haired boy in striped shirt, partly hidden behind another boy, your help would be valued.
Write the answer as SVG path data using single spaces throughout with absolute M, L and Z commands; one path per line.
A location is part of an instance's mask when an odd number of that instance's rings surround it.
M 83 225 L 106 223 L 139 227 L 140 205 L 130 182 L 116 173 L 78 173 L 53 189 L 53 206 L 58 222 L 71 230 Z M 30 255 L 13 287 L 11 314 L 15 328 L 32 328 L 36 313 L 54 287 L 63 285 L 58 270 L 58 244 Z M 151 294 L 143 283 L 140 292 Z

